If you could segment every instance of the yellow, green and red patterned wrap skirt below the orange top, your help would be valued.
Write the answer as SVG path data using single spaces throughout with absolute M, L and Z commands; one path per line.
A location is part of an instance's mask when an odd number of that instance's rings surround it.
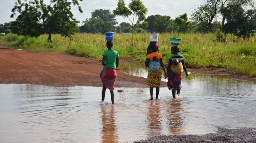
M 147 85 L 151 87 L 158 87 L 161 84 L 162 71 L 151 71 L 148 69 L 148 80 Z

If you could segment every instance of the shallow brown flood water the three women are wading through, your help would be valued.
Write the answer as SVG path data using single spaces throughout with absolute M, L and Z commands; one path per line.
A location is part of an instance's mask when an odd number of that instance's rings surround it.
M 137 72 L 130 74 L 145 76 Z M 152 101 L 149 88 L 116 88 L 114 105 L 108 90 L 100 101 L 101 89 L 0 84 L 0 142 L 130 143 L 215 133 L 216 126 L 256 127 L 253 82 L 190 74 L 182 78 L 183 100 L 173 99 L 167 87 Z

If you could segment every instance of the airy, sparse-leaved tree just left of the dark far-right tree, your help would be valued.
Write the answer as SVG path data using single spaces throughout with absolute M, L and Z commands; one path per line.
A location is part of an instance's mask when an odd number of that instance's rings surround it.
M 197 24 L 206 26 L 207 31 L 212 31 L 212 22 L 217 14 L 218 2 L 220 0 L 206 0 L 205 4 L 191 14 L 191 19 Z

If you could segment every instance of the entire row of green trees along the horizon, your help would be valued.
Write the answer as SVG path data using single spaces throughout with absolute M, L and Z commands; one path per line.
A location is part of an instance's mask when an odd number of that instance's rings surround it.
M 78 1 L 72 0 L 82 12 Z M 192 12 L 191 20 L 186 13 L 176 18 L 171 16 L 152 15 L 145 17 L 148 9 L 140 0 L 131 0 L 126 7 L 124 0 L 118 0 L 117 8 L 110 10 L 94 10 L 91 18 L 81 23 L 70 11 L 71 2 L 54 1 L 46 5 L 43 1 L 16 2 L 12 9 L 13 17 L 19 12 L 15 21 L 0 24 L 0 33 L 16 33 L 38 37 L 59 33 L 69 37 L 74 33 L 214 33 L 234 34 L 238 37 L 250 37 L 256 32 L 256 9 L 253 0 L 206 0 L 204 4 Z M 130 23 L 118 24 L 116 16 L 129 19 Z M 134 18 L 138 18 L 134 22 Z M 218 21 L 221 20 L 221 21 Z M 78 26 L 78 24 L 82 24 Z

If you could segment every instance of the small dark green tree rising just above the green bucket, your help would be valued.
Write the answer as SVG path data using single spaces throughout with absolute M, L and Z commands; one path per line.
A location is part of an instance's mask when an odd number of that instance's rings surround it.
M 190 22 L 188 21 L 187 13 L 175 18 L 175 23 L 178 26 L 179 32 L 187 32 L 189 30 Z

